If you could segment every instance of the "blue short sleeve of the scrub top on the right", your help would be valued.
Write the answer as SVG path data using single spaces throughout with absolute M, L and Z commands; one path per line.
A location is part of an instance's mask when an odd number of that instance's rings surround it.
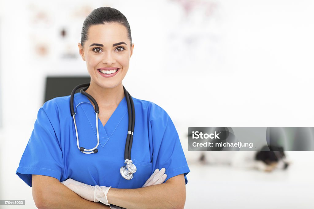
M 151 132 L 153 137 L 154 168 L 165 168 L 168 179 L 184 174 L 185 184 L 187 184 L 187 174 L 190 169 L 187 165 L 182 145 L 176 128 L 169 115 L 160 108 L 158 116 L 150 119 Z

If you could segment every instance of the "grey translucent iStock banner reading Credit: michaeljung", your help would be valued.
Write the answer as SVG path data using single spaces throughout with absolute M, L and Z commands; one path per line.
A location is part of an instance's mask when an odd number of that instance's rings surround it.
M 285 151 L 314 151 L 314 128 L 188 128 L 188 151 L 259 151 L 267 145 Z

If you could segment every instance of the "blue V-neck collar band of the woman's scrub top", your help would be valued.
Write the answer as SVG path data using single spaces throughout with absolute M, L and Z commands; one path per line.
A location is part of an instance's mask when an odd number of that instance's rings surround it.
M 95 136 L 97 137 L 97 129 L 96 129 L 96 112 L 94 111 L 94 107 L 92 103 L 89 101 L 89 99 L 81 94 L 81 93 L 75 93 L 74 94 L 74 100 L 75 107 L 74 110 L 78 111 L 78 114 L 80 111 L 84 111 L 86 118 L 89 121 L 90 126 L 92 126 Z M 89 105 L 82 105 L 81 103 L 87 102 Z M 97 101 L 96 101 L 97 102 Z M 81 107 L 81 108 L 79 108 Z M 109 120 L 105 124 L 105 126 L 102 125 L 100 119 L 98 118 L 98 132 L 99 132 L 99 143 L 102 148 L 106 145 L 107 141 L 113 134 L 113 132 L 116 130 L 119 123 L 122 121 L 122 118 L 127 114 L 127 101 L 126 97 L 123 97 L 121 102 L 116 107 L 115 111 L 110 116 Z M 93 125 L 94 124 L 94 125 Z

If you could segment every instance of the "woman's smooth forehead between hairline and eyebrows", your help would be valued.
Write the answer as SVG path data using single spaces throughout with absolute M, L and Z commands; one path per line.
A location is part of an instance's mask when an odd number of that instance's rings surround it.
M 88 32 L 88 42 L 113 44 L 124 41 L 127 43 L 127 29 L 121 24 L 92 25 Z

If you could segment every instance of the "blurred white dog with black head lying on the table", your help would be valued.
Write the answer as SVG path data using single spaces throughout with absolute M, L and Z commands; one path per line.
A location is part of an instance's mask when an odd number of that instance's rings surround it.
M 270 151 L 268 151 L 270 150 Z M 282 147 L 263 146 L 259 151 L 202 151 L 198 161 L 202 164 L 231 165 L 242 169 L 257 169 L 271 172 L 287 169 L 290 162 Z

